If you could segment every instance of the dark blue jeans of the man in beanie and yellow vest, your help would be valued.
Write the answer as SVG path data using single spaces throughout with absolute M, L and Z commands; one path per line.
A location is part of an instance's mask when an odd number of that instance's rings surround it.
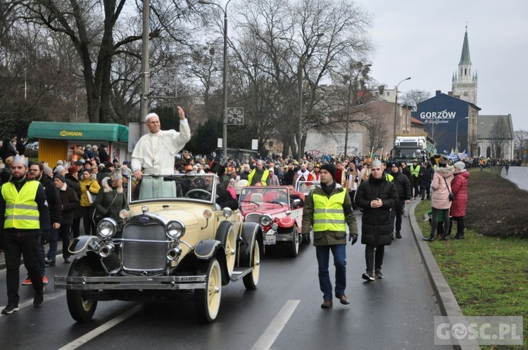
M 316 245 L 315 255 L 319 265 L 319 287 L 321 288 L 323 299 L 332 300 L 332 282 L 328 272 L 330 251 L 334 256 L 334 266 L 336 267 L 336 297 L 345 294 L 346 288 L 346 245 Z

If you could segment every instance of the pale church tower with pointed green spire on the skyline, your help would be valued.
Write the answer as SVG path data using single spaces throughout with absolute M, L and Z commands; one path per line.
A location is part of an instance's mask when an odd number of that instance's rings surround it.
M 464 44 L 462 46 L 462 55 L 458 63 L 458 72 L 453 74 L 451 90 L 453 96 L 460 100 L 467 101 L 477 105 L 477 72 L 473 74 L 472 63 L 470 59 L 470 42 L 467 40 L 467 25 L 465 27 Z

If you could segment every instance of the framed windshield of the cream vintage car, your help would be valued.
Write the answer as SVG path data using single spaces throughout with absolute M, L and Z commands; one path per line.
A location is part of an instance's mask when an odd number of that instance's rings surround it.
M 149 175 L 133 181 L 129 189 L 130 202 L 158 199 L 201 200 L 212 202 L 216 193 L 216 176 L 205 175 Z

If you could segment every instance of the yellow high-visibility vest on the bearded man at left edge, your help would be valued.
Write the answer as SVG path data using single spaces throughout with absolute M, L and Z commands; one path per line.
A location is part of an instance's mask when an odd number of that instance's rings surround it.
M 35 196 L 39 181 L 27 181 L 18 192 L 12 182 L 4 183 L 2 196 L 6 201 L 4 228 L 38 230 L 40 214 Z

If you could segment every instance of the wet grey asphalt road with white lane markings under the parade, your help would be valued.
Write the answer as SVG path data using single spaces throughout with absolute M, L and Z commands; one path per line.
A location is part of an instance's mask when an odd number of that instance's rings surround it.
M 99 302 L 92 322 L 75 323 L 65 292 L 52 286 L 52 276 L 68 273 L 58 259 L 46 271 L 50 285 L 41 308 L 32 306 L 32 289 L 20 286 L 20 311 L 0 316 L 1 349 L 436 349 L 434 316 L 441 313 L 408 219 L 402 235 L 385 249 L 386 277 L 372 283 L 361 279 L 364 246 L 347 246 L 348 306 L 334 299 L 332 309 L 320 309 L 315 248 L 302 245 L 296 259 L 263 257 L 257 290 L 246 291 L 241 282 L 224 286 L 210 325 L 198 323 L 189 295 L 177 302 Z M 5 283 L 4 271 L 1 306 Z

